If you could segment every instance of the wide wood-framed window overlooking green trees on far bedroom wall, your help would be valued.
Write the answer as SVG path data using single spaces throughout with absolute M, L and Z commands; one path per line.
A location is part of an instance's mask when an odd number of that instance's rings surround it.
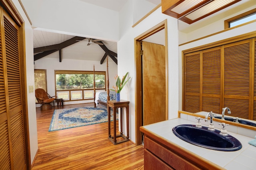
M 106 72 L 95 71 L 96 90 L 106 90 Z M 94 72 L 55 70 L 55 88 L 63 100 L 91 100 L 94 98 Z

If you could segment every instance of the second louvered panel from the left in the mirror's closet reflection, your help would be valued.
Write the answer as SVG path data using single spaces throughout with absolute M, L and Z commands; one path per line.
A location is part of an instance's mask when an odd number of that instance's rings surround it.
M 220 113 L 221 47 L 202 51 L 202 111 Z

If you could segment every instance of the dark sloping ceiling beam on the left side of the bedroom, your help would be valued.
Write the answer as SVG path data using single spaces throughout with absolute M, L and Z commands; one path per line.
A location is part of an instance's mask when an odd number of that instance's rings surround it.
M 86 38 L 85 37 L 73 37 L 71 39 L 68 39 L 67 41 L 60 43 L 60 44 L 35 48 L 34 53 L 36 51 L 36 53 L 39 53 L 39 54 L 34 55 L 34 61 L 41 59 L 42 57 L 45 57 L 46 55 L 52 54 L 56 51 L 59 51 L 65 47 L 68 47 L 69 45 L 77 43 L 78 41 L 76 41 L 76 40 L 83 40 L 83 39 L 86 39 Z M 42 53 L 40 53 L 40 52 L 42 52 Z

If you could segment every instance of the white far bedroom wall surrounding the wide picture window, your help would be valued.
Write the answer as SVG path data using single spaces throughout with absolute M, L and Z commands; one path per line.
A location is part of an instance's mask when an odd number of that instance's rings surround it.
M 93 65 L 94 65 L 95 71 L 106 71 L 106 60 L 104 61 L 103 64 L 100 64 L 100 61 L 85 61 L 85 60 L 70 60 L 70 59 L 63 59 L 62 62 L 59 62 L 58 58 L 50 58 L 50 57 L 55 57 L 55 55 L 59 55 L 58 51 L 48 55 L 48 57 L 47 56 L 43 57 L 34 62 L 35 69 L 46 69 L 47 92 L 50 96 L 55 95 L 54 70 L 92 71 Z M 114 61 L 110 57 L 108 58 L 108 74 L 109 74 L 109 88 L 113 89 L 112 86 L 116 84 L 114 77 L 117 74 L 117 64 L 114 63 Z M 93 100 L 81 100 L 81 101 L 73 101 L 73 102 L 64 101 L 64 105 L 90 103 L 90 102 L 94 102 L 94 101 Z M 37 104 L 36 107 L 40 107 L 40 104 Z

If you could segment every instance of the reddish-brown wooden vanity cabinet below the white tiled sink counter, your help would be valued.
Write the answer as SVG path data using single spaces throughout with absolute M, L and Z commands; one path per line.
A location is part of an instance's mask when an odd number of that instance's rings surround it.
M 221 170 L 224 169 L 189 150 L 176 145 L 144 127 L 144 169 L 145 170 Z

